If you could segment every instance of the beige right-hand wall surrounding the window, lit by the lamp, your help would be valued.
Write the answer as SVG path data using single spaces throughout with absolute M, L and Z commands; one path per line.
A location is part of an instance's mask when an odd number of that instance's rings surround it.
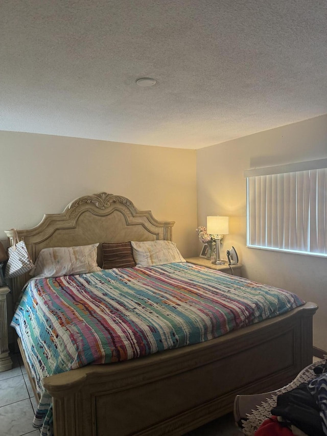
M 319 305 L 314 346 L 327 350 L 327 258 L 246 247 L 244 170 L 327 157 L 327 116 L 267 130 L 197 151 L 198 224 L 207 215 L 228 215 L 230 235 L 222 253 L 234 245 L 244 276 L 296 292 Z

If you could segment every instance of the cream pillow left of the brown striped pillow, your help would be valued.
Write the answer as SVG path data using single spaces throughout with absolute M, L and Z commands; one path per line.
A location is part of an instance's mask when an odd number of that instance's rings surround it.
M 30 275 L 61 277 L 100 271 L 97 263 L 98 245 L 99 243 L 77 247 L 43 248 Z

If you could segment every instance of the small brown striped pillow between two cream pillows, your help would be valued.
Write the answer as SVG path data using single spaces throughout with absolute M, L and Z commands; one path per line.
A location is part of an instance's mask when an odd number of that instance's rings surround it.
M 103 268 L 129 268 L 135 266 L 130 242 L 103 242 Z

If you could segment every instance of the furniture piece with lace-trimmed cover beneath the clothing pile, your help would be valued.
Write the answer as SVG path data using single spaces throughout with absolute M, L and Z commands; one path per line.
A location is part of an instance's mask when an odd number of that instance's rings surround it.
M 276 406 L 277 396 L 317 377 L 313 370 L 316 366 L 325 364 L 325 361 L 322 359 L 311 363 L 302 369 L 291 383 L 275 391 L 255 395 L 237 395 L 234 401 L 234 419 L 243 433 L 253 436 L 255 430 L 271 416 L 271 409 Z

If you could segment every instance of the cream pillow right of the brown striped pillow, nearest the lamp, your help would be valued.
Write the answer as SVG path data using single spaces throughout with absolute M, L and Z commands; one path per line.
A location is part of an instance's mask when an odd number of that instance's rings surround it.
M 164 265 L 186 262 L 172 241 L 131 241 L 136 266 Z

